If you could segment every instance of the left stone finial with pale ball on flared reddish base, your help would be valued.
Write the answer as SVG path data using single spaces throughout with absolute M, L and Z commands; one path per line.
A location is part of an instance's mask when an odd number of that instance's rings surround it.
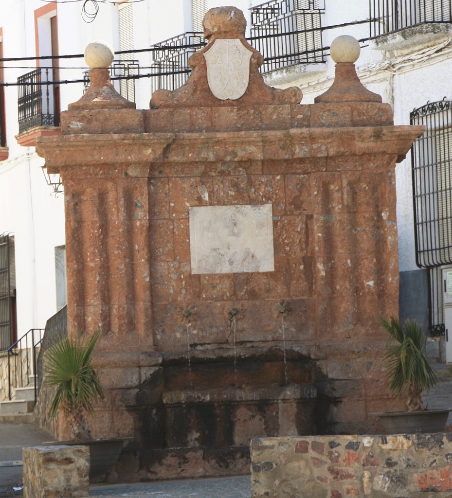
M 68 105 L 76 109 L 135 109 L 135 104 L 121 96 L 111 84 L 108 67 L 113 62 L 115 52 L 103 40 L 88 43 L 85 49 L 85 62 L 91 68 L 90 87 L 77 102 Z

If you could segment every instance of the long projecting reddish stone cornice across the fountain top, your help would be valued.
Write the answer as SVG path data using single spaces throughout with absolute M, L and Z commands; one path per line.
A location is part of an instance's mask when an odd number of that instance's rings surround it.
M 209 161 L 262 161 L 289 158 L 395 155 L 402 160 L 423 126 L 297 128 L 212 133 L 62 135 L 38 138 L 36 151 L 47 170 L 102 166 Z M 117 147 L 118 143 L 121 144 Z M 146 172 L 132 176 L 142 176 Z M 109 171 L 109 176 L 111 171 Z M 72 176 L 72 174 L 71 174 Z

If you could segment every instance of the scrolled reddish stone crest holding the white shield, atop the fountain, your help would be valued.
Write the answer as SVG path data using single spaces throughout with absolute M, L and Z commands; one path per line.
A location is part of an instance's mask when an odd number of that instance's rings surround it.
M 236 7 L 211 8 L 203 20 L 208 45 L 195 52 L 184 85 L 156 90 L 151 109 L 168 107 L 256 106 L 299 104 L 298 87 L 269 87 L 259 72 L 264 57 L 245 38 L 246 19 Z

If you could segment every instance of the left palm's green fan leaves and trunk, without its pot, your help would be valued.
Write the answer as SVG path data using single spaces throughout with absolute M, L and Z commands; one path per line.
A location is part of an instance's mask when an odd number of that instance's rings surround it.
M 44 356 L 46 383 L 56 386 L 49 414 L 54 417 L 58 409 L 62 409 L 69 418 L 74 440 L 91 439 L 85 412 L 92 413 L 93 402 L 105 399 L 99 377 L 91 365 L 99 335 L 99 331 L 95 332 L 89 341 L 60 339 Z

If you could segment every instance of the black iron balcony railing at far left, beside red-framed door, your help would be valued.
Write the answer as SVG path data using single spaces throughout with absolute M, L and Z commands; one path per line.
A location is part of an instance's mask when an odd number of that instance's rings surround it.
M 19 133 L 35 126 L 59 126 L 55 112 L 52 69 L 35 69 L 17 78 Z M 46 83 L 46 84 L 41 84 Z

